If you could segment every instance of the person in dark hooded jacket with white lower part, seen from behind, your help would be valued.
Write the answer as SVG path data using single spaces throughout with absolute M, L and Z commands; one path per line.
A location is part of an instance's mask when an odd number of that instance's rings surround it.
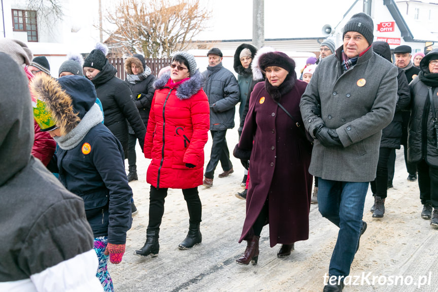
M 102 291 L 84 202 L 30 155 L 28 80 L 0 63 L 0 291 Z

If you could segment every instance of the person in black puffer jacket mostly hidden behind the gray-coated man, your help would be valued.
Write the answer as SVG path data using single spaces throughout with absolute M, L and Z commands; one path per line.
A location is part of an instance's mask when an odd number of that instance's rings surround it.
M 373 42 L 373 50 L 391 62 L 391 50 L 387 42 Z M 374 196 L 374 205 L 370 210 L 373 212 L 373 218 L 382 218 L 385 213 L 385 199 L 388 189 L 388 159 L 391 152 L 400 149 L 402 134 L 401 111 L 406 109 L 411 101 L 408 79 L 406 79 L 405 71 L 401 68 L 398 68 L 397 81 L 397 104 L 395 105 L 394 118 L 382 131 L 376 179 L 370 183 Z

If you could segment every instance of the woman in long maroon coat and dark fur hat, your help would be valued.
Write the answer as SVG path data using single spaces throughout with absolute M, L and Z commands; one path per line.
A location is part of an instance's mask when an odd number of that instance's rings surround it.
M 238 158 L 251 155 L 246 218 L 239 240 L 248 243 L 236 261 L 242 265 L 257 264 L 260 233 L 267 223 L 271 247 L 282 244 L 279 257 L 290 255 L 294 242 L 309 238 L 313 179 L 308 172 L 310 143 L 296 125 L 302 124 L 299 101 L 307 83 L 296 79 L 295 62 L 282 52 L 260 50 L 253 66 L 254 71 L 265 72 L 266 80 L 251 93 L 242 136 L 234 149 Z

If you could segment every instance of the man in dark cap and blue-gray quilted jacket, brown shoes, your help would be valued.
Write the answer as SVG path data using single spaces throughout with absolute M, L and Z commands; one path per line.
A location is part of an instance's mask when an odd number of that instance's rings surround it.
M 218 48 L 211 49 L 209 67 L 203 73 L 206 92 L 210 103 L 210 132 L 213 138 L 210 161 L 206 167 L 204 186 L 213 185 L 216 166 L 221 163 L 223 173 L 219 177 L 226 177 L 233 173 L 229 150 L 226 144 L 226 130 L 234 127 L 235 105 L 239 103 L 239 84 L 234 75 L 222 66 L 222 52 Z

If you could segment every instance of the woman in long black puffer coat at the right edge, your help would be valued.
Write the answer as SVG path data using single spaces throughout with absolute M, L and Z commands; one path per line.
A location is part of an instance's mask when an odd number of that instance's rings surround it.
M 408 160 L 417 165 L 421 217 L 431 219 L 430 225 L 438 228 L 438 49 L 420 61 L 420 70 L 409 84 L 412 102 Z

